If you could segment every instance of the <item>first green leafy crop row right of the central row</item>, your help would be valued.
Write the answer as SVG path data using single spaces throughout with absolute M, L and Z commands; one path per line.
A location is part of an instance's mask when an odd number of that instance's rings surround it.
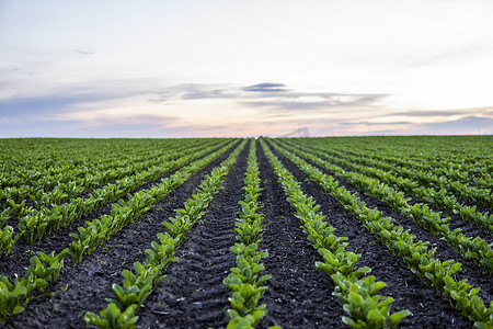
M 280 161 L 268 149 L 264 140 L 261 140 L 280 185 L 286 193 L 286 200 L 295 209 L 296 216 L 302 222 L 303 231 L 308 240 L 319 251 L 323 262 L 316 263 L 317 269 L 324 271 L 335 283 L 335 295 L 343 303 L 348 317 L 343 321 L 352 328 L 394 328 L 410 311 L 406 309 L 390 315 L 389 305 L 392 297 L 378 295 L 378 292 L 387 286 L 383 282 L 375 282 L 375 276 L 364 276 L 371 269 L 365 266 L 355 270 L 360 254 L 345 250 L 348 246 L 346 237 L 337 237 L 333 232 L 335 228 L 328 225 L 325 216 L 319 212 L 310 196 L 307 196 Z

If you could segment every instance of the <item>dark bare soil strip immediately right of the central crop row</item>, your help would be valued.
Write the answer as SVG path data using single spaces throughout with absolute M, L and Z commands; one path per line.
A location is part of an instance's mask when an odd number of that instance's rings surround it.
M 299 228 L 283 188 L 277 182 L 267 158 L 257 149 L 262 180 L 262 213 L 266 225 L 261 250 L 268 252 L 263 260 L 265 272 L 272 275 L 262 303 L 267 315 L 261 328 L 279 325 L 283 328 L 342 328 L 342 303 L 334 296 L 334 284 L 317 271 L 318 252 Z

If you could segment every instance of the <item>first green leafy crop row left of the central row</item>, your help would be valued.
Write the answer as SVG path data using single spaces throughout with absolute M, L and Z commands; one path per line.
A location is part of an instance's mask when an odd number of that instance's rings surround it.
M 113 285 L 116 298 L 108 298 L 110 304 L 100 315 L 88 311 L 84 315 L 88 325 L 93 324 L 100 328 L 135 328 L 139 307 L 164 277 L 164 269 L 177 260 L 174 256 L 175 249 L 183 243 L 194 224 L 204 216 L 214 195 L 222 189 L 222 181 L 245 143 L 246 140 L 243 140 L 228 159 L 206 175 L 184 207 L 176 209 L 175 217 L 163 223 L 167 232 L 158 234 L 159 243 L 153 241 L 152 249 L 146 250 L 148 257 L 145 263 L 134 263 L 135 273 L 130 270 L 122 272 L 125 279 L 123 287 Z

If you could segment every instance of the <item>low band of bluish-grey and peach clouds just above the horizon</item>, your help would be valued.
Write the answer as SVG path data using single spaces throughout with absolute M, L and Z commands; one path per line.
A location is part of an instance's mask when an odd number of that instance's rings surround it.
M 274 82 L 161 88 L 138 82 L 4 98 L 0 137 L 275 137 L 298 124 L 313 136 L 493 131 L 493 107 L 392 110 L 386 105 L 388 94 L 306 92 Z

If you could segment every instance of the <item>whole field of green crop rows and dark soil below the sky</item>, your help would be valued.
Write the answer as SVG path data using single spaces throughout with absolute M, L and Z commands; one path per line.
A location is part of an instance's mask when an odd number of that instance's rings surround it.
M 0 146 L 0 327 L 493 328 L 493 136 Z

